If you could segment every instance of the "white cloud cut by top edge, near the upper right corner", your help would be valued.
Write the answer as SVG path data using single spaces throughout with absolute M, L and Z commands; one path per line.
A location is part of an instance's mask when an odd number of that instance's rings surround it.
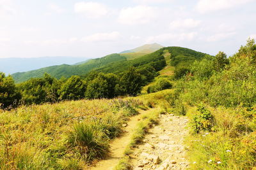
M 254 0 L 199 0 L 196 10 L 207 13 L 217 10 L 225 10 Z

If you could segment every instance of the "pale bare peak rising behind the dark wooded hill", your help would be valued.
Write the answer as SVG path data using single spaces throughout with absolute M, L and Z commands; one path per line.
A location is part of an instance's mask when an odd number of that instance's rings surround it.
M 156 52 L 157 50 L 159 50 L 163 47 L 164 47 L 163 45 L 154 43 L 154 44 L 139 46 L 132 50 L 126 50 L 126 51 L 120 52 L 120 53 L 152 53 L 152 52 Z

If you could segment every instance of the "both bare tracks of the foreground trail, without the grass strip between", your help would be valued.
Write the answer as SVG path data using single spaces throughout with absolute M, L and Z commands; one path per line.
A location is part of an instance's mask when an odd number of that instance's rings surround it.
M 152 110 L 148 110 L 152 111 Z M 110 144 L 110 154 L 107 159 L 100 160 L 90 170 L 112 170 L 124 156 L 125 147 L 129 144 L 133 129 L 140 121 L 143 114 L 131 117 L 124 127 L 125 133 L 114 139 Z M 131 155 L 131 169 L 186 169 L 189 166 L 186 160 L 186 150 L 183 145 L 184 138 L 188 136 L 187 117 L 177 117 L 166 114 L 160 115 L 159 124 L 149 129 L 143 143 Z

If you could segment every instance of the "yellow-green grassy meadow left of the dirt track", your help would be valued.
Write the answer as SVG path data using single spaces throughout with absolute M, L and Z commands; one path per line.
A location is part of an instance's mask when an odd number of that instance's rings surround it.
M 109 141 L 142 105 L 100 99 L 0 110 L 0 169 L 83 169 L 108 153 Z

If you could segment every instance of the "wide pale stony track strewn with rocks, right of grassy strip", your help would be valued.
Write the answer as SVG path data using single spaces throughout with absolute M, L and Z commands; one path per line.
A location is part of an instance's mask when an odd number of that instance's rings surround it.
M 188 136 L 187 117 L 161 115 L 159 124 L 149 130 L 144 143 L 132 157 L 132 169 L 187 169 L 184 138 Z

